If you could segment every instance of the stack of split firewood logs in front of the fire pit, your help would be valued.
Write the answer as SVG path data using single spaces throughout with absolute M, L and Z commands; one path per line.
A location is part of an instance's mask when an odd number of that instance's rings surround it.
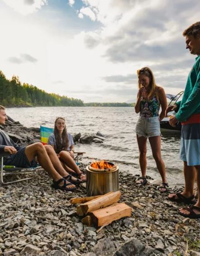
M 79 203 L 77 214 L 85 216 L 82 223 L 88 226 L 106 226 L 114 220 L 130 217 L 132 208 L 125 203 L 118 203 L 121 192 L 108 192 L 105 195 L 72 198 L 72 204 Z

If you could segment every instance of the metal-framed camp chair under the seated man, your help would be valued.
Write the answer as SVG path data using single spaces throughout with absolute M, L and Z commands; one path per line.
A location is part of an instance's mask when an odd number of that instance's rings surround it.
M 8 156 L 8 155 L 9 155 L 8 152 L 0 153 L 0 183 L 2 185 L 7 185 L 7 184 L 15 183 L 15 182 L 30 180 L 35 177 L 36 168 L 18 168 L 15 166 L 4 166 L 3 165 L 3 157 Z M 33 172 L 32 177 L 17 179 L 17 180 L 10 181 L 10 182 L 4 182 L 4 180 L 3 180 L 3 177 L 5 175 L 23 174 L 23 173 L 28 173 L 28 172 Z

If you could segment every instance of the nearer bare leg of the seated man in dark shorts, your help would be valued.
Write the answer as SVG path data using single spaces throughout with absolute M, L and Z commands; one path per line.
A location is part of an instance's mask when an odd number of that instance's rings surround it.
M 36 156 L 39 164 L 44 168 L 46 172 L 53 178 L 54 181 L 58 181 L 62 178 L 62 176 L 56 171 L 54 168 L 49 156 L 47 155 L 47 151 L 42 143 L 34 143 L 29 145 L 25 149 L 25 155 L 29 162 L 31 162 Z M 67 182 L 69 183 L 69 182 Z M 62 181 L 59 185 L 63 186 L 64 182 Z M 73 184 L 68 186 L 68 188 L 75 187 Z

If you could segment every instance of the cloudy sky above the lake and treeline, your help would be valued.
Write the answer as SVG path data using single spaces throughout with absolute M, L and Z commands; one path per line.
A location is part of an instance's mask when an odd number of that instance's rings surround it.
M 182 32 L 199 10 L 199 0 L 0 0 L 0 69 L 84 102 L 128 102 L 149 66 L 175 94 L 196 57 Z

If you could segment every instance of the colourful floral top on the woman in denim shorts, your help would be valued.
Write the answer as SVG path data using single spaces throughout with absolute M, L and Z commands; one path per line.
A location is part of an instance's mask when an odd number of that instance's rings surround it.
M 149 118 L 159 116 L 160 102 L 157 100 L 156 95 L 149 101 L 144 100 L 142 97 L 140 101 L 140 116 Z

